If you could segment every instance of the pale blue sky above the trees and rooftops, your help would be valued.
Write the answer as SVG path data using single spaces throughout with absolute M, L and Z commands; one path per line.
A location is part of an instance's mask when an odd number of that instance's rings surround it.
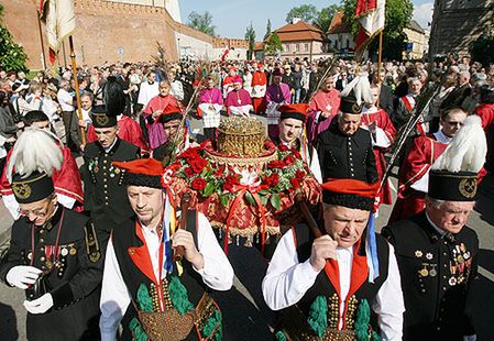
M 271 19 L 273 30 L 285 24 L 286 13 L 293 8 L 304 3 L 311 3 L 318 9 L 333 3 L 338 0 L 179 0 L 180 15 L 184 23 L 191 11 L 204 13 L 209 11 L 217 34 L 227 37 L 243 38 L 245 29 L 252 25 L 260 41 L 266 32 L 267 19 Z M 415 4 L 414 19 L 427 29 L 427 22 L 432 16 L 433 0 L 413 0 Z

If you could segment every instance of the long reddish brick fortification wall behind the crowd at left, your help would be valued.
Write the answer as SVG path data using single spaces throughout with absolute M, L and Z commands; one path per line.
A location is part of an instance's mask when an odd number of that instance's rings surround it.
M 12 32 L 14 41 L 21 44 L 28 56 L 28 66 L 40 69 L 41 42 L 37 29 L 37 0 L 2 0 L 3 23 Z M 165 48 L 166 57 L 175 61 L 178 48 L 175 32 L 182 32 L 196 40 L 212 43 L 201 32 L 176 23 L 164 8 L 119 3 L 105 0 L 75 0 L 76 32 L 74 44 L 78 65 L 100 65 L 119 62 L 119 47 L 123 47 L 123 62 L 152 61 L 156 54 L 156 42 Z M 43 26 L 42 31 L 45 31 Z M 47 41 L 44 35 L 45 55 Z M 68 42 L 59 52 L 59 63 L 69 64 Z

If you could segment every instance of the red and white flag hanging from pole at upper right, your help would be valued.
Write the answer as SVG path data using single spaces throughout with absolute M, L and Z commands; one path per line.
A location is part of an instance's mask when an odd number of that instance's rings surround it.
M 355 19 L 360 23 L 355 54 L 360 59 L 372 38 L 384 29 L 386 0 L 358 0 Z

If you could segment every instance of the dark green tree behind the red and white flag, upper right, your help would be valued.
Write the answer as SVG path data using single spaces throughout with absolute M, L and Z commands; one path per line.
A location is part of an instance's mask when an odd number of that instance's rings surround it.
M 354 19 L 356 0 L 342 0 L 344 18 L 352 24 L 353 34 L 356 36 L 359 23 Z M 383 58 L 402 59 L 406 36 L 403 29 L 410 22 L 414 13 L 411 0 L 386 0 L 385 26 L 383 33 Z M 378 40 L 374 40 L 370 47 L 370 54 L 376 54 Z

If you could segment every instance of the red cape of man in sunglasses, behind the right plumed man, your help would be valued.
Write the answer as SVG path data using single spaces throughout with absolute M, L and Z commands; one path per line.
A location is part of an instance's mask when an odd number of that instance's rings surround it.
M 405 162 L 399 169 L 398 198 L 388 223 L 405 219 L 424 210 L 426 194 L 411 188 L 429 170 L 433 162 L 444 152 L 447 143 L 436 140 L 432 134 L 414 139 Z

